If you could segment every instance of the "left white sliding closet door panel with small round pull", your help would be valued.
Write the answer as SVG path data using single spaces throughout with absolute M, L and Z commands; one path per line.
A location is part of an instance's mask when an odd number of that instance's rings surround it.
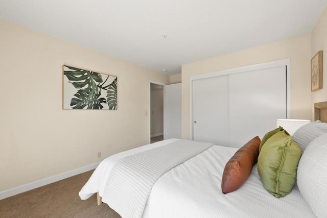
M 228 75 L 193 81 L 193 140 L 229 144 Z

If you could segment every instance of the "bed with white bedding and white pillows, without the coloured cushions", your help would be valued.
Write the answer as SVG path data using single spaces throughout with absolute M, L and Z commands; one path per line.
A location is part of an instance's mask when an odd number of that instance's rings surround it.
M 327 108 L 317 105 L 319 110 Z M 79 196 L 85 200 L 97 193 L 98 203 L 107 203 L 124 218 L 327 217 L 327 124 L 312 122 L 297 130 L 293 138 L 304 146 L 300 146 L 303 153 L 296 169 L 297 182 L 285 197 L 275 198 L 267 191 L 257 163 L 239 188 L 224 194 L 221 184 L 225 168 L 239 149 L 181 139 L 159 141 L 106 158 Z M 158 164 L 160 170 L 164 168 L 159 173 L 152 166 L 147 168 L 147 163 L 157 165 L 156 155 L 165 156 L 166 148 L 171 155 L 177 153 L 177 144 L 183 147 L 190 143 L 194 143 L 194 149 L 186 147 L 181 160 L 170 162 L 168 156 L 160 159 L 160 164 L 168 161 L 169 168 Z M 151 158 L 143 160 L 142 155 Z M 130 157 L 137 163 L 129 163 Z M 121 172 L 125 174 L 118 175 Z M 141 178 L 137 178 L 139 175 Z

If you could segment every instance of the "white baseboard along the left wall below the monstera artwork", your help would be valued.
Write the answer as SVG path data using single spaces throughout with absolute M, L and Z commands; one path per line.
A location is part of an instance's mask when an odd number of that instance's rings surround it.
M 18 195 L 19 193 L 29 191 L 29 190 L 32 190 L 34 188 L 41 187 L 43 185 L 48 185 L 50 183 L 57 182 L 57 181 L 62 180 L 62 179 L 66 179 L 68 177 L 75 176 L 77 174 L 81 174 L 81 173 L 85 173 L 87 171 L 91 171 L 92 169 L 97 168 L 99 163 L 90 164 L 90 165 L 87 165 L 87 166 L 84 166 L 84 167 L 81 167 L 81 168 L 74 169 L 73 171 L 68 171 L 68 172 L 65 172 L 65 173 L 62 173 L 62 174 L 58 174 L 56 176 L 52 176 L 52 177 L 49 177 L 49 178 L 45 178 L 45 179 L 41 179 L 41 180 L 38 180 L 38 181 L 35 181 L 35 182 L 28 183 L 28 184 L 25 184 L 25 185 L 21 185 L 21 186 L 15 187 L 15 188 L 10 188 L 10 189 L 4 190 L 4 191 L 0 191 L 0 200 L 5 199 L 5 198 L 9 198 L 9 197 L 14 196 L 14 195 Z

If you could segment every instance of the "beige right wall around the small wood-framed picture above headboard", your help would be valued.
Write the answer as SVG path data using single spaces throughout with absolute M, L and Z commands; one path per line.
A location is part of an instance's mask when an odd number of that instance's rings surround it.
M 322 51 L 322 89 L 311 92 L 311 119 L 314 119 L 314 103 L 327 101 L 327 9 L 322 13 L 316 27 L 312 31 L 311 58 Z

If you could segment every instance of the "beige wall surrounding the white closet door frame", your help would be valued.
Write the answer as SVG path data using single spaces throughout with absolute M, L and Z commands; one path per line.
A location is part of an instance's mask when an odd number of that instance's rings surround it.
M 266 44 L 182 66 L 182 137 L 190 138 L 190 77 L 291 58 L 291 118 L 310 119 L 311 36 Z

